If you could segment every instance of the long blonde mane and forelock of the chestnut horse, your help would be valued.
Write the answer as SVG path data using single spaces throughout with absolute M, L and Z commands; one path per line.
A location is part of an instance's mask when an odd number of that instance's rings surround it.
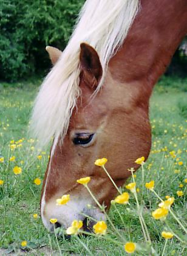
M 98 52 L 103 67 L 99 90 L 107 64 L 123 44 L 138 9 L 138 0 L 85 2 L 66 49 L 43 81 L 35 100 L 31 126 L 41 147 L 52 136 L 63 139 L 67 133 L 72 110 L 80 96 L 80 43 L 88 43 Z

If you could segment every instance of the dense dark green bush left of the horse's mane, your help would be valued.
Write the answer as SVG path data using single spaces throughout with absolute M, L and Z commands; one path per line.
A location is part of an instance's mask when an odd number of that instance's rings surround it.
M 49 67 L 47 44 L 63 49 L 84 0 L 0 0 L 0 78 Z

